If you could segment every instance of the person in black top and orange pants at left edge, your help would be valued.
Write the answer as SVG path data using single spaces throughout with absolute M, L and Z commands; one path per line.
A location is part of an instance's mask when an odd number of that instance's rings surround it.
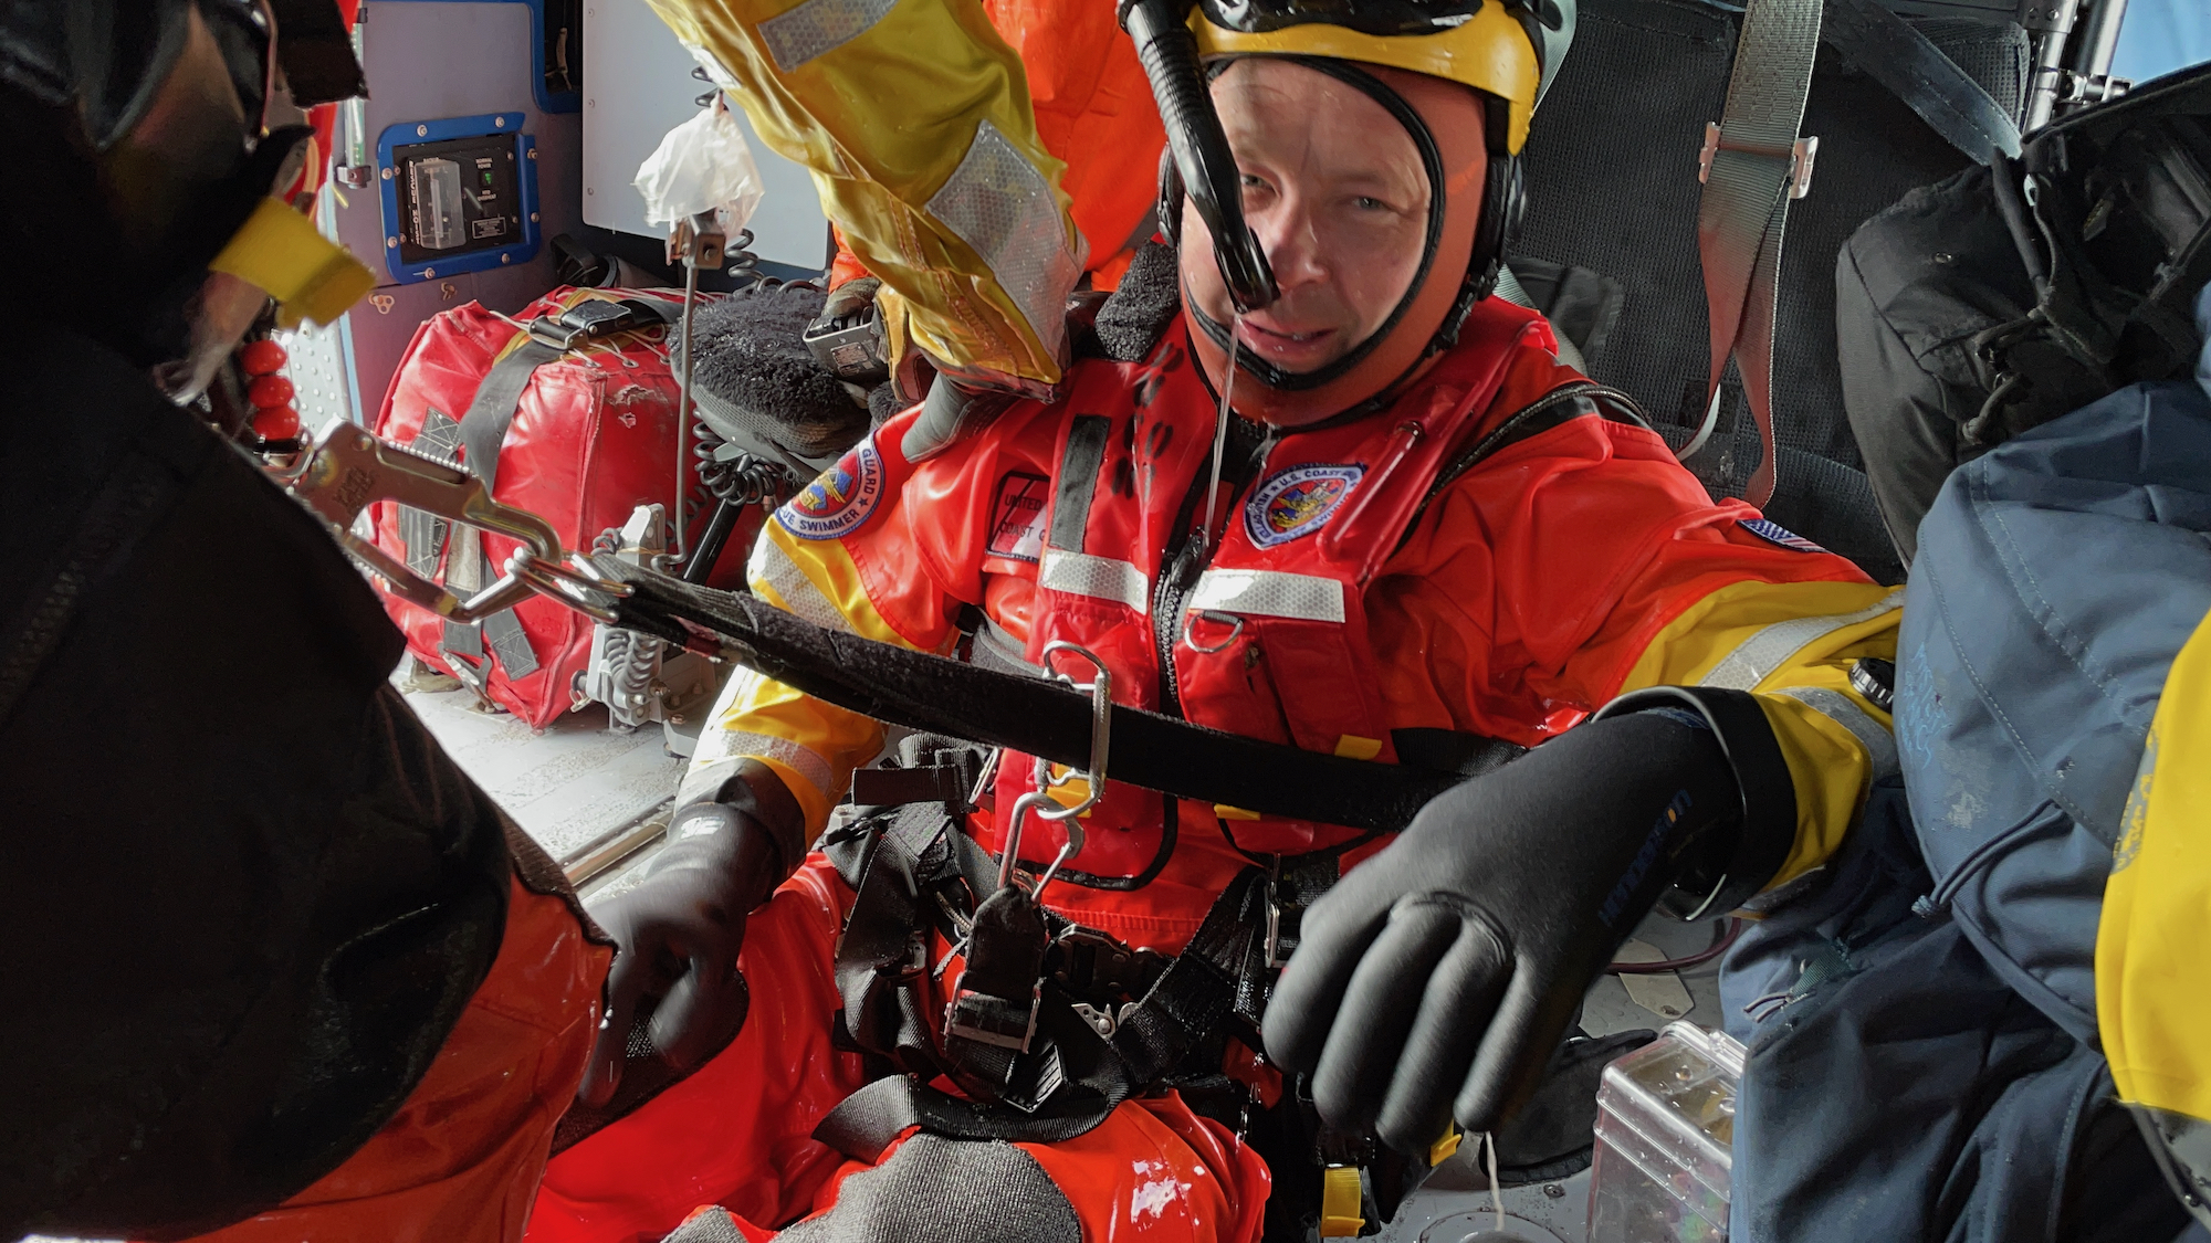
M 285 197 L 358 91 L 329 0 L 0 13 L 0 1239 L 513 1243 L 584 1073 L 608 942 L 208 427 L 374 283 Z

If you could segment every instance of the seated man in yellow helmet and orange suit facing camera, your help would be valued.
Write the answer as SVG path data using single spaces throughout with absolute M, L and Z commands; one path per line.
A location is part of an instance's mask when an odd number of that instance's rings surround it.
M 1159 9 L 1181 27 L 1154 4 L 1132 31 L 1159 35 Z M 1163 175 L 1176 228 L 1117 299 L 1165 281 L 1172 316 L 1114 347 L 1106 303 L 1052 400 L 889 420 L 778 511 L 750 575 L 887 644 L 1077 681 L 1088 652 L 1117 703 L 1307 752 L 1457 770 L 1532 750 L 1395 840 L 1108 783 L 1079 821 L 1030 814 L 1017 882 L 951 922 L 920 911 L 878 960 L 884 991 L 856 993 L 845 969 L 880 927 L 862 936 L 847 871 L 862 896 L 891 887 L 904 852 L 898 891 L 926 907 L 926 867 L 968 847 L 900 838 L 926 829 L 900 812 L 867 867 L 840 871 L 838 834 L 807 854 L 884 730 L 741 670 L 672 845 L 597 911 L 624 951 L 584 1099 L 617 1095 L 641 1006 L 694 1070 L 553 1161 L 533 1241 L 657 1239 L 694 1208 L 681 1239 L 1258 1239 L 1320 1205 L 1267 1210 L 1245 1117 L 1309 1099 L 1402 1152 L 1453 1119 L 1497 1126 L 1660 898 L 1727 911 L 1840 843 L 1888 752 L 1851 672 L 1890 657 L 1895 597 L 1714 502 L 1632 400 L 1554 358 L 1541 316 L 1488 296 L 1541 9 L 1201 4 L 1198 91 L 1243 197 L 1198 203 L 1181 161 Z M 1037 807 L 1037 776 L 997 759 L 962 825 L 979 856 Z M 1291 894 L 1316 874 L 1342 880 Z M 1307 902 L 1260 1017 L 1234 962 L 1287 949 Z M 1024 905 L 1052 953 L 1139 964 L 1139 986 L 1079 997 L 1123 1068 L 1145 1053 L 1132 1031 L 1170 1028 L 1209 1064 L 1128 1070 L 1079 1126 L 1037 1108 L 1066 1084 L 993 1079 L 991 1051 L 1044 1042 L 1083 986 L 1039 984 L 1021 1033 L 1024 997 L 975 984 Z M 1161 1020 L 1167 982 L 1225 942 L 1236 995 L 1178 993 L 1198 1004 Z M 1050 1040 L 1077 1079 L 1070 1031 Z M 1174 1090 L 1207 1075 L 1243 1084 L 1249 1115 Z

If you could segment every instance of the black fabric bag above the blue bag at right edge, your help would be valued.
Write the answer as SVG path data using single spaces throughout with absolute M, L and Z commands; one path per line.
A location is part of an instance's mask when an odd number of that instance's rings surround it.
M 1835 270 L 1844 400 L 1910 557 L 1950 469 L 2191 372 L 2211 281 L 2211 66 L 2039 130 L 1866 221 Z

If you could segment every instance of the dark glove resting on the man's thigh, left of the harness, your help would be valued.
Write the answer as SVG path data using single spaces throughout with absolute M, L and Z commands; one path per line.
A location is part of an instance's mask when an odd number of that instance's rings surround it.
M 745 1022 L 736 973 L 745 916 L 805 858 L 805 814 L 774 770 L 747 763 L 714 801 L 677 809 L 668 847 L 646 878 L 590 913 L 619 947 L 606 975 L 606 1017 L 577 1099 L 604 1106 L 621 1084 L 630 1024 L 657 997 L 648 1033 L 677 1070 L 694 1070 Z

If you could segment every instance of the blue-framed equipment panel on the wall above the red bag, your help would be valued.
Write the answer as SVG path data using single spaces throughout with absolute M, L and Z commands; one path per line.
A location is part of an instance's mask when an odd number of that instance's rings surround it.
M 537 142 L 522 113 L 385 126 L 376 177 L 400 285 L 537 257 Z

